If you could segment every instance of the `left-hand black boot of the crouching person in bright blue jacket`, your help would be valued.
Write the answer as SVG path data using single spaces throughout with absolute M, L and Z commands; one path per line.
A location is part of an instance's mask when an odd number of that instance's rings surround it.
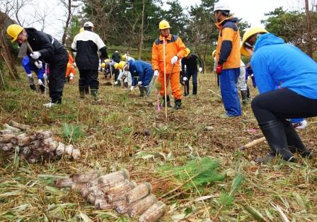
M 295 158 L 293 153 L 289 151 L 282 122 L 279 119 L 274 119 L 270 122 L 259 123 L 259 126 L 272 149 L 271 154 L 277 151 L 283 160 L 294 162 Z

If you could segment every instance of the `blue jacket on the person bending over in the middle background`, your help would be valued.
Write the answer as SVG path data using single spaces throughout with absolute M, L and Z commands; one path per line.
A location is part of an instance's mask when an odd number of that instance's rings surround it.
M 130 60 L 129 71 L 133 79 L 135 79 L 136 76 L 139 76 L 138 81 L 142 81 L 142 86 L 149 86 L 154 74 L 151 64 L 142 60 Z M 132 86 L 135 86 L 136 84 L 136 81 L 133 81 Z

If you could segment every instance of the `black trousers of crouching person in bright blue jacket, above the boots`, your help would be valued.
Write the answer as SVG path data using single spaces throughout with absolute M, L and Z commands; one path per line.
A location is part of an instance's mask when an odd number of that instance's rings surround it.
M 287 88 L 257 95 L 251 106 L 258 123 L 317 116 L 317 99 L 306 98 Z

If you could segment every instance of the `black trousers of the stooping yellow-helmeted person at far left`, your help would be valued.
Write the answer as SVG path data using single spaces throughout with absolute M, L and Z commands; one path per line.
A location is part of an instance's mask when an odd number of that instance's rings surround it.
M 68 53 L 55 54 L 50 60 L 50 74 L 48 75 L 48 88 L 52 103 L 61 103 L 65 83 L 65 73 L 68 63 Z

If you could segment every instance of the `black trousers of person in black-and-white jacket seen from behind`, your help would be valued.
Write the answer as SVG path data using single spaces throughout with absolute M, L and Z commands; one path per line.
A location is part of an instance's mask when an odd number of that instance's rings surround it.
M 98 70 L 79 69 L 79 88 L 98 89 Z

